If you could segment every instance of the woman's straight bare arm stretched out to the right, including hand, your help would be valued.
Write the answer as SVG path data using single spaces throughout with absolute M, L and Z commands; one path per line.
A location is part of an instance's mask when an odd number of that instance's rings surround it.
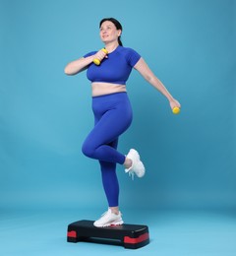
M 136 65 L 134 66 L 136 70 L 140 72 L 140 74 L 148 81 L 148 83 L 157 89 L 163 96 L 166 96 L 169 100 L 170 107 L 173 109 L 174 107 L 181 107 L 180 103 L 170 95 L 168 90 L 164 87 L 164 85 L 157 79 L 157 77 L 152 73 L 149 69 L 148 64 L 145 62 L 143 58 L 141 58 Z

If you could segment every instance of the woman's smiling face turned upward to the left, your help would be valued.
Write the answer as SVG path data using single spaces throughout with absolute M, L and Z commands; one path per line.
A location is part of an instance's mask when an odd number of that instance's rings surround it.
M 100 38 L 103 42 L 112 42 L 118 39 L 120 36 L 121 30 L 117 30 L 115 25 L 112 22 L 105 21 L 101 24 L 100 27 Z

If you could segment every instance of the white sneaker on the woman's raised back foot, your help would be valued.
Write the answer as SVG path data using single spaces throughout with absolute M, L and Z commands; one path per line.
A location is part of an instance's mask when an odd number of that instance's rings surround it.
M 140 160 L 139 153 L 131 149 L 128 155 L 126 156 L 128 159 L 132 160 L 132 166 L 128 169 L 125 169 L 125 172 L 129 172 L 134 179 L 134 173 L 139 177 L 143 177 L 145 175 L 146 169 L 144 163 Z

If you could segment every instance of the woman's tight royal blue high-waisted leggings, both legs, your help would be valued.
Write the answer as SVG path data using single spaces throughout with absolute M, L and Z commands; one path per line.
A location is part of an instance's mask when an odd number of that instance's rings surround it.
M 109 207 L 119 205 L 119 183 L 116 163 L 125 156 L 117 151 L 118 138 L 132 122 L 132 107 L 126 93 L 92 97 L 94 127 L 83 144 L 83 153 L 99 160 L 103 188 Z

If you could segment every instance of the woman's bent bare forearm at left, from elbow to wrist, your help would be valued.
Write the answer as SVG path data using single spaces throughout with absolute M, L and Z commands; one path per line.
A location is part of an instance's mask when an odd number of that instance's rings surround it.
M 87 69 L 89 64 L 93 61 L 93 59 L 94 55 L 74 60 L 66 65 L 64 71 L 67 75 L 76 75 Z

